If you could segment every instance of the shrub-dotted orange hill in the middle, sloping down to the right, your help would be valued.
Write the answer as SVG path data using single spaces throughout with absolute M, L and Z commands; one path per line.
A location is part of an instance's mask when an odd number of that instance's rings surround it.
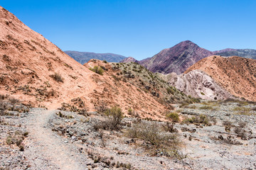
M 171 109 L 170 103 L 194 102 L 193 98 L 189 99 L 175 87 L 169 86 L 164 79 L 135 62 L 90 60 L 84 66 L 99 73 L 92 77 L 97 84 L 97 89 L 90 95 L 95 106 L 103 102 L 109 106 L 118 105 L 124 111 L 132 108 L 142 113 L 144 118 L 161 118 L 165 115 L 160 113 Z

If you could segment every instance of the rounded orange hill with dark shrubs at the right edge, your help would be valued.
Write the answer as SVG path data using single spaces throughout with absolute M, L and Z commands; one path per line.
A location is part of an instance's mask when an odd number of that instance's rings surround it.
M 256 60 L 243 57 L 210 56 L 186 70 L 200 69 L 230 94 L 256 101 Z

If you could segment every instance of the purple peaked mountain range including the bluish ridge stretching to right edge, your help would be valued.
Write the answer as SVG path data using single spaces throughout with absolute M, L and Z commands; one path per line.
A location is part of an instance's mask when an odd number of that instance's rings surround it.
M 174 47 L 161 50 L 161 52 L 153 57 L 149 57 L 141 61 L 137 61 L 134 58 L 129 57 L 129 59 L 124 59 L 121 62 L 136 61 L 151 72 L 159 72 L 163 74 L 175 72 L 176 74 L 181 74 L 185 72 L 188 67 L 191 67 L 199 60 L 210 55 L 221 55 L 225 57 L 240 56 L 256 59 L 256 50 L 227 48 L 225 50 L 211 52 L 199 47 L 189 40 L 186 40 L 178 43 Z

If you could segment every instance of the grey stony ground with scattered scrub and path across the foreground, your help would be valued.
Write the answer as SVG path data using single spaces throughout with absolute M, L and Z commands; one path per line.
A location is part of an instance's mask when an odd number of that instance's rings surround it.
M 100 112 L 12 107 L 0 169 L 256 169 L 254 103 L 176 104 L 168 125 L 132 113 L 115 128 Z

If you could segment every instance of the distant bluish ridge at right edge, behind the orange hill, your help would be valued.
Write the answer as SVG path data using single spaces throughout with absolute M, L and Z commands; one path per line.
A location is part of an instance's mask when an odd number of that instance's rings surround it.
M 256 60 L 256 50 L 252 49 L 232 49 L 227 48 L 220 51 L 213 52 L 214 55 L 220 55 L 225 57 L 239 56 L 245 58 L 251 58 Z

